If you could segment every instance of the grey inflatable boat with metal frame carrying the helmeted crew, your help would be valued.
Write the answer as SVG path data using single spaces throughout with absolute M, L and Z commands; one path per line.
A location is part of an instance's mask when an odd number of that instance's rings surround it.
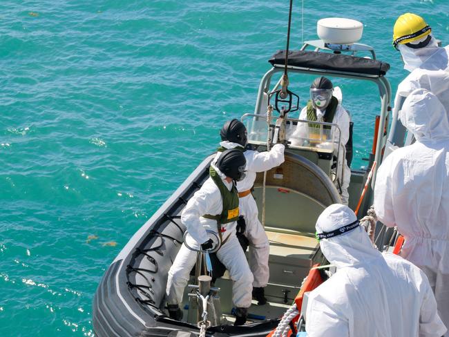
M 359 56 L 363 53 L 369 57 Z M 271 93 L 280 86 L 276 75 L 280 77 L 284 70 L 285 51 L 276 52 L 269 63 L 271 68 L 260 81 L 254 113 L 241 118 L 247 126 L 251 148 L 266 151 L 270 142 L 276 141 L 286 145 L 285 162 L 268 171 L 265 180 L 264 173 L 258 173 L 253 191 L 260 217 L 264 209 L 263 223 L 270 243 L 270 278 L 265 289 L 267 304 L 256 305 L 254 302 L 249 308 L 247 323 L 234 327 L 232 281 L 225 273 L 213 289 L 208 285 L 213 313 L 208 309 L 210 324 L 200 327 L 198 322 L 202 316 L 198 307 L 202 303 L 198 300 L 198 289 L 201 280 L 198 280 L 198 273 L 192 273 L 181 306 L 184 319 L 173 320 L 166 311 L 167 275 L 186 230 L 180 214 L 187 200 L 209 176 L 209 165 L 214 157 L 211 154 L 133 235 L 106 270 L 93 300 L 96 336 L 267 336 L 278 327 L 292 303 L 296 301 L 300 308 L 301 285 L 311 269 L 318 273 L 315 279 L 325 276 L 321 269 L 312 268 L 326 264 L 314 238 L 314 226 L 325 207 L 341 202 L 338 179 L 341 179 L 343 168 L 338 167 L 338 162 L 335 167 L 334 158 L 342 147 L 340 139 L 336 139 L 332 132 L 338 126 L 321 122 L 315 126 L 314 137 L 292 138 L 292 130 L 305 121 L 288 115 L 267 114 Z M 362 200 L 361 192 L 373 163 L 378 166 L 381 163 L 387 144 L 391 88 L 385 75 L 390 66 L 376 60 L 374 50 L 369 46 L 355 43 L 349 47 L 334 46 L 323 40 L 307 41 L 300 50 L 289 52 L 287 66 L 292 75 L 325 75 L 361 83 L 370 81 L 379 89 L 381 108 L 380 115 L 373 120 L 373 150 L 366 168 L 352 169 L 349 188 L 350 206 L 352 209 L 359 206 L 359 216 L 364 215 L 372 204 L 375 179 L 367 185 Z M 350 145 L 348 142 L 345 153 L 341 154 L 348 162 L 352 158 Z M 375 177 L 376 167 L 372 173 Z M 305 282 L 309 288 L 314 287 L 311 280 L 308 278 Z

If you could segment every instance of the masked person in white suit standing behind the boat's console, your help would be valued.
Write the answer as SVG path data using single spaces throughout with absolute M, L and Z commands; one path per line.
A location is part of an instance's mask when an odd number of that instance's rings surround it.
M 338 182 L 341 186 L 337 186 L 338 191 L 341 191 L 341 201 L 343 204 L 348 204 L 350 195 L 347 192 L 347 188 L 350 186 L 351 181 L 351 169 L 347 165 L 345 158 L 345 145 L 350 139 L 350 115 L 347 113 L 345 108 L 341 106 L 338 99 L 332 95 L 334 92 L 334 86 L 332 81 L 326 77 L 318 77 L 314 79 L 312 85 L 310 86 L 310 100 L 307 102 L 307 106 L 301 110 L 299 114 L 299 119 L 307 121 L 316 122 L 327 122 L 334 123 L 338 125 L 335 128 L 334 139 L 338 141 L 340 138 L 340 151 L 338 155 L 338 165 L 337 165 L 337 177 Z M 319 128 L 319 125 L 310 123 L 298 122 L 296 126 L 296 131 L 291 135 L 290 141 L 292 144 L 296 144 L 297 139 L 307 138 L 309 135 L 309 128 Z M 324 126 L 326 128 L 326 126 Z M 298 144 L 300 145 L 300 144 Z M 343 177 L 341 177 L 341 167 L 343 166 Z

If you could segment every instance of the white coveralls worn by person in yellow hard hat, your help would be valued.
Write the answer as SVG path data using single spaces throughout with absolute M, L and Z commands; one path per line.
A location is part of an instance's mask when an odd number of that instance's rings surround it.
M 426 37 L 417 40 L 419 43 Z M 404 68 L 411 73 L 398 86 L 394 108 L 399 108 L 401 97 L 408 97 L 413 90 L 424 88 L 437 95 L 449 113 L 449 46 L 437 45 L 432 37 L 426 47 L 413 49 L 399 44 Z

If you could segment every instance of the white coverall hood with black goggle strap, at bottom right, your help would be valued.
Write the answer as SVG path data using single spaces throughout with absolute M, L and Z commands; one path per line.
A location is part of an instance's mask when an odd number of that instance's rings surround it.
M 332 204 L 316 220 L 316 231 L 329 233 L 356 220 L 354 211 L 348 206 Z M 334 238 L 321 239 L 320 247 L 327 260 L 337 269 L 368 264 L 372 260 L 382 258 L 361 226 Z

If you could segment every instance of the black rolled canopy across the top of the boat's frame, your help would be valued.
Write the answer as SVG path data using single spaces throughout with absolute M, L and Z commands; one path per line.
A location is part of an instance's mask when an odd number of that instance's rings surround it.
M 285 65 L 285 50 L 279 50 L 269 59 L 273 66 Z M 390 64 L 344 54 L 330 52 L 310 52 L 305 50 L 289 51 L 288 65 L 299 68 L 334 70 L 343 73 L 383 76 Z

